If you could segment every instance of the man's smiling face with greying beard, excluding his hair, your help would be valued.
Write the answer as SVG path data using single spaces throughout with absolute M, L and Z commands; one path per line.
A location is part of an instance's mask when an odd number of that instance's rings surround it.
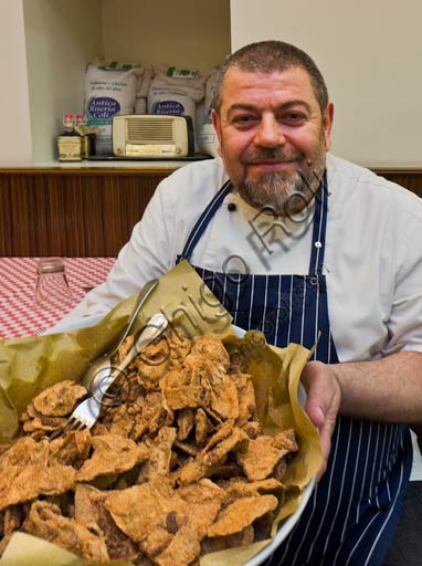
M 213 124 L 226 172 L 243 199 L 276 214 L 284 214 L 293 193 L 309 201 L 325 168 L 333 114 L 328 104 L 321 115 L 302 67 L 272 73 L 229 69 Z

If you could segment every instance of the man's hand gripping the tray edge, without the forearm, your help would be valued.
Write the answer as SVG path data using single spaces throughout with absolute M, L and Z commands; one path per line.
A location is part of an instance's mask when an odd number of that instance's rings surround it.
M 319 430 L 324 464 L 319 469 L 318 482 L 326 471 L 331 436 L 340 408 L 341 389 L 331 366 L 321 361 L 308 361 L 302 373 L 300 380 L 307 392 L 306 412 Z

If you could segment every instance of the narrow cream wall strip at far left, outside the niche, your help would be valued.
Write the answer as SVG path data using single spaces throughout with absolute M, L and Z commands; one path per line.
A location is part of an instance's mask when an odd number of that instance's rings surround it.
M 0 160 L 31 159 L 23 11 L 20 0 L 0 0 Z

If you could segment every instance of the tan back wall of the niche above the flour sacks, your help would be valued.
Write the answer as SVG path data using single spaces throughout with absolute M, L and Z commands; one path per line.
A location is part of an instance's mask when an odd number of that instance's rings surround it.
M 230 0 L 103 0 L 105 55 L 201 70 L 230 53 Z

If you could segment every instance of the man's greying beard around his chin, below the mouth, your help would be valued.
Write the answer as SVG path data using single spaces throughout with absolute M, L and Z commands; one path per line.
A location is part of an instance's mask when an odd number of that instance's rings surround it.
M 287 180 L 283 171 L 265 172 L 259 180 L 244 179 L 236 189 L 247 205 L 274 216 L 289 217 L 303 210 L 313 199 L 323 171 L 304 175 L 297 171 Z

